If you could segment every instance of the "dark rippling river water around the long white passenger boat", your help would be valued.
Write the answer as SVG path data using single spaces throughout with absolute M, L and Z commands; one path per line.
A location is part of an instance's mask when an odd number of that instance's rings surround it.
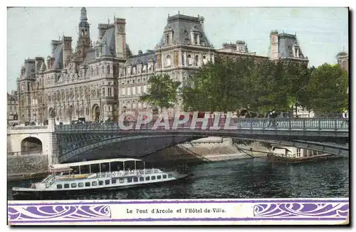
M 78 194 L 65 199 L 258 199 L 349 197 L 349 159 L 272 167 L 266 158 L 189 166 L 192 178 L 174 184 Z M 8 182 L 11 187 L 23 182 Z

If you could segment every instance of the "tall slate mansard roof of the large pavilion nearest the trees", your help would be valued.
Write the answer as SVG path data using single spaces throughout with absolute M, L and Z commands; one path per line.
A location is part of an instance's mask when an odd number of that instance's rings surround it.
M 191 41 L 191 30 L 193 26 L 196 26 L 197 31 L 200 32 L 200 41 L 205 42 L 205 46 L 211 46 L 209 39 L 206 37 L 203 28 L 199 22 L 198 17 L 185 16 L 182 14 L 177 14 L 175 16 L 169 16 L 167 19 L 167 25 L 164 30 L 171 28 L 173 30 L 173 43 L 187 43 Z M 164 34 L 162 34 L 161 41 L 159 41 L 160 46 L 164 46 Z

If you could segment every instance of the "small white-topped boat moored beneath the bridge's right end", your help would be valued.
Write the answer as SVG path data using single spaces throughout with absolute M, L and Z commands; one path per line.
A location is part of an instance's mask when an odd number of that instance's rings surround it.
M 296 164 L 312 162 L 320 159 L 335 158 L 333 154 L 300 149 L 296 147 L 272 147 L 273 152 L 267 154 L 268 162 L 281 164 Z

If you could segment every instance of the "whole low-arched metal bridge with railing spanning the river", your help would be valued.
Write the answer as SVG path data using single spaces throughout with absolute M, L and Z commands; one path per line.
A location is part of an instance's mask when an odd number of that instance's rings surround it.
M 199 122 L 200 120 L 200 122 Z M 88 154 L 110 157 L 144 156 L 157 149 L 201 137 L 235 137 L 348 155 L 349 125 L 345 119 L 198 119 L 184 123 L 173 120 L 126 121 L 56 125 L 58 162 L 72 162 Z M 138 141 L 139 143 L 137 143 Z M 140 144 L 140 146 L 137 146 Z M 122 149 L 122 147 L 124 149 Z M 90 158 L 89 158 L 90 159 Z

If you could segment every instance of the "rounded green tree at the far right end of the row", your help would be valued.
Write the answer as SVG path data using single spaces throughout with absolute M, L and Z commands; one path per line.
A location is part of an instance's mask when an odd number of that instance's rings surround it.
M 308 108 L 318 114 L 342 112 L 348 105 L 348 75 L 340 65 L 325 63 L 311 73 Z

